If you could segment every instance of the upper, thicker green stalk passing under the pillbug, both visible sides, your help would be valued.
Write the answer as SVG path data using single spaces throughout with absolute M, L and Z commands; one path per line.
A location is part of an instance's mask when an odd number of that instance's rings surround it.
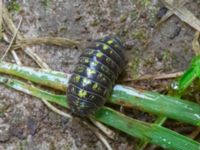
M 32 69 L 5 62 L 0 63 L 0 72 L 15 75 L 62 91 L 66 91 L 70 76 L 61 72 Z M 163 115 L 200 126 L 200 105 L 186 100 L 116 85 L 108 102 L 126 107 L 137 107 L 159 116 Z

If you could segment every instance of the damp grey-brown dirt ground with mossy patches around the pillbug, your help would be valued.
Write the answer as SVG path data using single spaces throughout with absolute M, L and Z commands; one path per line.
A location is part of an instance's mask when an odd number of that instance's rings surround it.
M 81 42 L 80 48 L 31 47 L 53 70 L 70 73 L 87 42 L 105 35 L 119 35 L 126 46 L 127 65 L 118 82 L 165 93 L 173 80 L 135 82 L 134 79 L 146 74 L 184 71 L 194 56 L 191 42 L 195 30 L 176 16 L 156 26 L 159 20 L 156 14 L 162 7 L 157 1 L 9 0 L 5 4 L 16 26 L 23 17 L 19 30 L 25 38 L 59 36 Z M 197 0 L 185 6 L 200 19 Z M 2 51 L 5 44 L 2 42 L 0 46 Z M 37 67 L 23 51 L 17 54 L 23 65 Z M 13 62 L 10 54 L 6 60 Z M 136 109 L 125 112 L 143 121 L 155 119 Z M 180 129 L 180 124 L 172 120 L 165 126 L 184 134 L 194 129 L 189 125 Z M 0 131 L 0 150 L 106 149 L 81 120 L 70 121 L 49 110 L 39 99 L 3 85 L 0 85 Z M 114 131 L 115 140 L 108 139 L 113 149 L 136 149 L 138 139 Z

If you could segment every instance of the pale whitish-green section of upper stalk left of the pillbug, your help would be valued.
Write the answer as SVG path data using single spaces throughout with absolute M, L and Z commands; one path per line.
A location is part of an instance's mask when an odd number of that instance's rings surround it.
M 0 62 L 0 72 L 15 75 L 23 79 L 65 91 L 70 75 L 52 70 L 22 67 L 16 64 Z M 56 86 L 55 86 L 56 85 Z

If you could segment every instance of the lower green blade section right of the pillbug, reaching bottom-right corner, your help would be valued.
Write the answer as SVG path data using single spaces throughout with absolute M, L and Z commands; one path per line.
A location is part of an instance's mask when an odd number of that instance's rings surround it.
M 200 143 L 192 139 L 164 127 L 129 118 L 107 107 L 100 109 L 94 117 L 96 120 L 111 127 L 150 143 L 160 145 L 165 149 L 197 150 L 200 148 Z

